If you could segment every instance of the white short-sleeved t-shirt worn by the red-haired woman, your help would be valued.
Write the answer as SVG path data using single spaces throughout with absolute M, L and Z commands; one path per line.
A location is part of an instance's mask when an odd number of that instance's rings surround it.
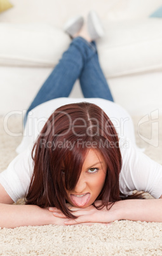
M 116 103 L 98 98 L 58 98 L 43 103 L 30 111 L 18 156 L 0 174 L 0 183 L 8 195 L 17 201 L 25 196 L 33 171 L 31 150 L 37 135 L 53 111 L 69 103 L 90 102 L 97 104 L 111 118 L 119 134 L 123 165 L 119 175 L 121 193 L 128 196 L 133 190 L 149 192 L 153 197 L 162 195 L 162 166 L 141 152 L 135 145 L 133 122 L 130 115 Z

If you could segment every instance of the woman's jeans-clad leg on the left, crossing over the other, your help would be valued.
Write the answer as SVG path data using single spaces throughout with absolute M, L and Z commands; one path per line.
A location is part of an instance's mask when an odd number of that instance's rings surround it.
M 68 97 L 74 83 L 81 75 L 87 59 L 91 59 L 94 54 L 94 49 L 85 39 L 81 37 L 74 38 L 67 51 L 63 53 L 62 59 L 60 59 L 30 104 L 24 123 L 29 111 L 37 105 L 58 97 Z

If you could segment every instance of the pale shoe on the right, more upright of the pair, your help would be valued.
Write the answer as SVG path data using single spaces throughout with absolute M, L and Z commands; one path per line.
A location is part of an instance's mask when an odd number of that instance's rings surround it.
M 102 38 L 105 34 L 102 22 L 95 11 L 88 13 L 87 28 L 92 40 Z

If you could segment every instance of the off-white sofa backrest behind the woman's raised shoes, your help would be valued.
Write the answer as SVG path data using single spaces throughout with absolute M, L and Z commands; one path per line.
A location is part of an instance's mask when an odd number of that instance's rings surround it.
M 9 0 L 13 8 L 0 15 L 0 22 L 49 22 L 58 27 L 72 15 L 91 9 L 104 20 L 147 18 L 161 0 Z

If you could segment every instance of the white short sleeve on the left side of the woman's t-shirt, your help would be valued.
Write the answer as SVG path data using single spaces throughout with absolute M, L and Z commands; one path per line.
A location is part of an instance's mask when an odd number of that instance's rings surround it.
M 30 185 L 32 171 L 33 160 L 29 147 L 17 155 L 8 168 L 0 173 L 0 183 L 14 202 L 24 198 Z

